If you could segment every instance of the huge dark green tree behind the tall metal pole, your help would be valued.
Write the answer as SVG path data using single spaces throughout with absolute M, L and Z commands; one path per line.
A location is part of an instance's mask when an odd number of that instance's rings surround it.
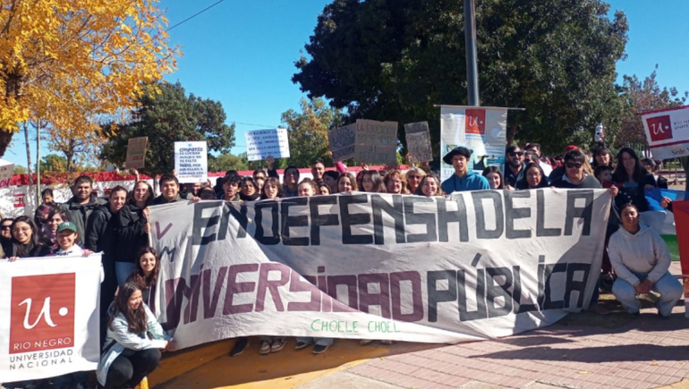
M 476 6 L 481 105 L 526 108 L 509 114 L 508 142 L 539 141 L 559 151 L 576 131 L 592 139 L 597 123 L 615 123 L 624 13 L 610 18 L 599 0 Z M 434 105 L 467 103 L 463 15 L 459 0 L 334 0 L 293 81 L 309 97 L 347 107 L 350 119 L 428 121 L 437 147 Z

